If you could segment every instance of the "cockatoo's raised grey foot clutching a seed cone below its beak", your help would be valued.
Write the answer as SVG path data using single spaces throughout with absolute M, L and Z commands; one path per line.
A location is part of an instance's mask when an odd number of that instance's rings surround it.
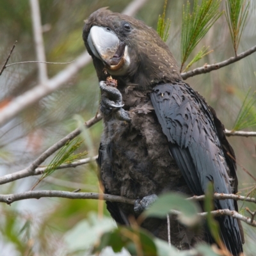
M 104 115 L 113 113 L 115 118 L 121 121 L 130 122 L 129 112 L 122 107 L 122 94 L 115 87 L 108 86 L 105 81 L 100 81 L 100 89 L 102 90 L 100 111 Z

